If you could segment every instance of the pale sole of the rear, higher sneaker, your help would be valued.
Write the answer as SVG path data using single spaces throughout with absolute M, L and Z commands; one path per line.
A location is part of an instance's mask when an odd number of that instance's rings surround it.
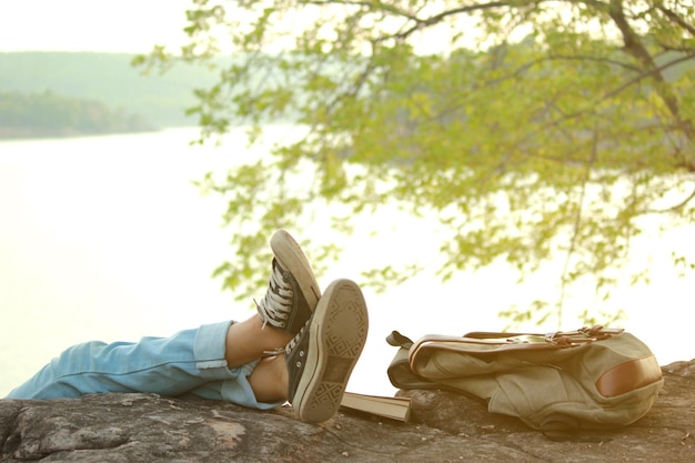
M 283 269 L 292 273 L 312 312 L 321 299 L 321 289 L 302 248 L 284 230 L 273 233 L 270 248 Z

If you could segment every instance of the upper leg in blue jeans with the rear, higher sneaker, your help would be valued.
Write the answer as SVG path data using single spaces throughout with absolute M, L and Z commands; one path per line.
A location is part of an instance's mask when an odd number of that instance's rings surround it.
M 301 248 L 285 231 L 271 239 L 274 253 L 269 288 L 259 314 L 241 323 L 216 323 L 171 338 L 68 349 L 8 397 L 75 397 L 104 392 L 201 395 L 251 403 L 250 375 L 265 350 L 282 349 L 310 319 L 321 292 Z M 241 386 L 230 382 L 241 381 Z M 214 393 L 220 383 L 222 394 Z M 226 382 L 226 384 L 224 384 Z M 213 386 L 204 390 L 207 383 Z M 202 387 L 202 389 L 201 389 Z M 211 392 L 213 391 L 213 392 Z

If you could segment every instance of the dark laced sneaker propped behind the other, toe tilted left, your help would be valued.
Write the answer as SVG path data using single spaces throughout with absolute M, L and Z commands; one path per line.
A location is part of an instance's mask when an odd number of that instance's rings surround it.
M 274 258 L 268 291 L 255 305 L 263 326 L 270 324 L 295 335 L 311 319 L 321 290 L 306 256 L 290 233 L 276 231 L 270 246 Z

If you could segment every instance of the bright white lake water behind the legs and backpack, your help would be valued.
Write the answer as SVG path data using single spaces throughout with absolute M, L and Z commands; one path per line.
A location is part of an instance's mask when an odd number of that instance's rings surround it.
M 220 227 L 221 199 L 191 183 L 226 169 L 244 143 L 235 133 L 219 149 L 188 145 L 197 133 L 0 142 L 0 397 L 78 342 L 165 336 L 253 313 L 251 301 L 234 302 L 210 276 L 229 253 L 230 231 Z M 360 282 L 361 271 L 403 255 L 436 261 L 427 219 L 391 211 L 359 220 L 370 230 L 357 227 L 344 242 L 345 256 L 324 275 L 324 286 L 341 276 Z M 322 227 L 316 236 L 330 236 Z M 691 335 L 684 321 L 693 309 L 692 274 L 678 278 L 669 261 L 669 246 L 695 258 L 694 232 L 646 233 L 634 255 L 635 264 L 651 265 L 651 284 L 618 289 L 607 302 L 577 289 L 568 306 L 625 308 L 623 326 L 647 342 L 661 364 L 694 358 L 695 346 L 683 342 Z M 425 273 L 383 294 L 365 290 L 370 336 L 349 389 L 394 392 L 385 373 L 395 353 L 384 341 L 392 330 L 412 338 L 497 331 L 505 324 L 498 311 L 554 298 L 553 269 L 523 284 L 497 264 L 445 284 Z

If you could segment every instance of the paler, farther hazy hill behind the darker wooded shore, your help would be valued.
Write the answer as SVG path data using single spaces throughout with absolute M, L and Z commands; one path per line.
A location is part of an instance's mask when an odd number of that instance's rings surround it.
M 207 88 L 216 80 L 215 73 L 180 64 L 163 76 L 143 76 L 142 69 L 130 64 L 132 58 L 95 52 L 0 53 L 0 92 L 27 98 L 48 92 L 66 101 L 97 102 L 151 127 L 195 125 L 198 120 L 184 111 L 195 104 L 193 89 Z

